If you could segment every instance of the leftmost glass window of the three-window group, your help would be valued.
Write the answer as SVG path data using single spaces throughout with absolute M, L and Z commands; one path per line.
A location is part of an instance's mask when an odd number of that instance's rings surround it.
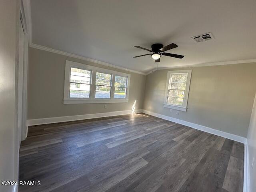
M 71 67 L 70 98 L 90 98 L 91 71 Z

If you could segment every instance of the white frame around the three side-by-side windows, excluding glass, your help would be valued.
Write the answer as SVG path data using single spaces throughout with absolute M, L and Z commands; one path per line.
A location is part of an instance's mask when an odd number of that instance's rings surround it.
M 91 71 L 91 86 L 90 86 L 90 97 L 89 98 L 70 98 L 69 97 L 71 67 Z M 111 88 L 110 88 L 110 98 L 95 98 L 96 72 L 112 74 L 112 84 L 111 84 Z M 115 76 L 116 75 L 127 77 L 126 98 L 114 98 L 114 90 L 115 90 L 114 84 L 115 84 Z M 86 65 L 86 64 L 66 60 L 63 104 L 127 103 L 128 99 L 129 99 L 130 78 L 131 78 L 130 74 L 126 74 L 126 73 L 122 73 L 122 72 L 117 72 L 117 71 L 113 71 L 113 70 L 108 70 L 108 69 L 104 69 L 104 68 L 99 68 L 99 67 L 95 67 L 95 66 L 90 66 L 90 65 Z

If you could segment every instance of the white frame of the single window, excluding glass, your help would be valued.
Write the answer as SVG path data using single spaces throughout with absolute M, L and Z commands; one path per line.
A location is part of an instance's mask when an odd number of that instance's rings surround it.
M 166 80 L 166 88 L 165 88 L 165 98 L 164 98 L 164 107 L 171 108 L 175 110 L 185 111 L 187 110 L 187 104 L 188 104 L 188 93 L 189 93 L 189 87 L 190 87 L 190 80 L 191 80 L 191 73 L 192 70 L 178 70 L 178 71 L 168 71 L 167 73 L 167 80 Z M 180 105 L 172 105 L 167 103 L 167 96 L 168 96 L 168 88 L 169 88 L 169 82 L 170 82 L 170 76 L 173 74 L 188 74 L 187 81 L 186 81 L 186 90 L 184 94 L 183 104 Z

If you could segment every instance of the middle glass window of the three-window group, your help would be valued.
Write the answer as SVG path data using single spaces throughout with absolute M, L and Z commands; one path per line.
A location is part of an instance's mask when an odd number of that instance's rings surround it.
M 110 98 L 112 75 L 96 72 L 95 98 Z

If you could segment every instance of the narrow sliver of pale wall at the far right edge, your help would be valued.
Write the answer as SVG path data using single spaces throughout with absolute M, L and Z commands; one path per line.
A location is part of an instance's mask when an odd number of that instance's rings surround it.
M 248 171 L 250 178 L 250 191 L 256 191 L 256 95 L 254 99 L 254 105 L 252 109 L 252 116 L 247 135 L 248 144 Z M 252 168 L 252 161 L 254 160 L 254 166 Z

